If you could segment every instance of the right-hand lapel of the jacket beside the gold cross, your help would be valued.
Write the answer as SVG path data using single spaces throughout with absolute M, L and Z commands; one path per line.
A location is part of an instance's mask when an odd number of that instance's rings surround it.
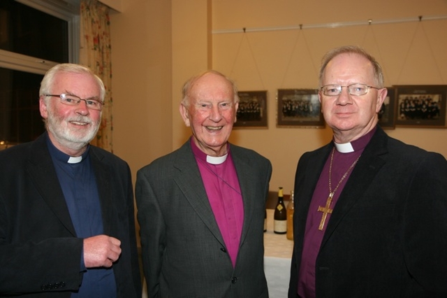
M 353 169 L 349 180 L 346 182 L 342 193 L 337 201 L 337 205 L 330 216 L 328 227 L 323 236 L 321 247 L 329 239 L 330 235 L 337 228 L 339 223 L 343 220 L 346 213 L 356 204 L 356 202 L 363 197 L 374 176 L 379 172 L 384 159 L 380 155 L 386 154 L 386 134 L 380 127 L 372 137 L 371 141 L 362 153 L 358 160 L 358 164 Z

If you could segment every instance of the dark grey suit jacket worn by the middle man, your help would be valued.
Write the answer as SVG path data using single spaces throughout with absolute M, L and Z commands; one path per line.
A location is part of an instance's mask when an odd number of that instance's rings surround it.
M 135 197 L 149 297 L 268 297 L 263 222 L 272 166 L 230 146 L 244 201 L 235 268 L 187 141 L 137 173 Z

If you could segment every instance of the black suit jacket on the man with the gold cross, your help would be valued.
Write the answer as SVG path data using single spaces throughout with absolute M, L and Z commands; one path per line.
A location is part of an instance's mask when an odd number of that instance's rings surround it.
M 297 297 L 307 211 L 332 146 L 298 163 L 289 297 Z M 446 252 L 446 159 L 378 127 L 333 208 L 316 297 L 447 297 Z

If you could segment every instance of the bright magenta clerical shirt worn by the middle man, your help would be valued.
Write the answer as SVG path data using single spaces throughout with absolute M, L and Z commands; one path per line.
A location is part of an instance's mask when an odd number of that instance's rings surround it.
M 226 157 L 210 157 L 191 140 L 208 200 L 219 226 L 226 250 L 235 267 L 244 223 L 244 204 L 239 180 L 228 145 Z

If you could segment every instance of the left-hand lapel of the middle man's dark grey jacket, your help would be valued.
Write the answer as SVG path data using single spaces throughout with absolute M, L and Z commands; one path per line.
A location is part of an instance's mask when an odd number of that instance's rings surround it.
M 196 211 L 208 229 L 210 229 L 210 232 L 212 232 L 222 246 L 225 246 L 189 141 L 184 143 L 177 153 L 173 165 L 178 170 L 177 176 L 174 178 L 175 183 L 177 183 L 185 199 L 189 201 L 194 211 Z

